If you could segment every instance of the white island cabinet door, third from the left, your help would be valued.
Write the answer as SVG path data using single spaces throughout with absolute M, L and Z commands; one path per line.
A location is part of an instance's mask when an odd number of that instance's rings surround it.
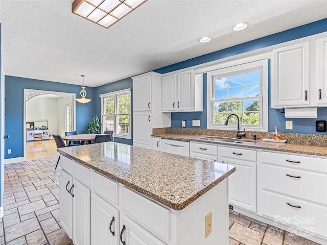
M 91 244 L 119 244 L 119 211 L 97 194 L 91 200 Z

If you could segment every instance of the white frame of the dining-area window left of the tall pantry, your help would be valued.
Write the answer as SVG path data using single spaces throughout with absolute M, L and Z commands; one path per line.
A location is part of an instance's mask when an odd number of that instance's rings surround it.
M 124 95 L 124 94 L 129 94 L 130 96 L 130 105 L 129 105 L 129 114 L 119 114 L 118 111 L 118 96 L 120 95 Z M 105 115 L 109 115 L 112 116 L 112 114 L 105 114 L 104 113 L 104 102 L 105 99 L 108 97 L 114 97 L 114 114 L 113 114 L 113 137 L 117 137 L 117 138 L 124 138 L 124 139 L 132 139 L 132 93 L 131 93 L 131 89 L 123 89 L 123 90 L 118 90 L 118 91 L 113 91 L 113 92 L 109 92 L 109 93 L 104 93 L 104 94 L 100 94 L 100 99 L 101 99 L 101 132 L 103 132 L 103 117 Z M 120 115 L 129 115 L 129 135 L 123 135 L 123 134 L 117 134 L 116 132 L 116 122 L 117 122 L 117 118 Z

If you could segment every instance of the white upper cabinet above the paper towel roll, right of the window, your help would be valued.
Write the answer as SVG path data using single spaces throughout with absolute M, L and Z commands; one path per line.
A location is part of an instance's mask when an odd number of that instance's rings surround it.
M 327 105 L 327 37 L 273 50 L 271 107 Z

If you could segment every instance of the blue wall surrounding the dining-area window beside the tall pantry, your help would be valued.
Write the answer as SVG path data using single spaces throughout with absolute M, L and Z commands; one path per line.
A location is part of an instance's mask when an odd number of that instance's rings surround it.
M 133 87 L 133 80 L 131 78 L 126 78 L 114 83 L 109 83 L 109 84 L 105 84 L 99 87 L 95 88 L 95 109 L 96 109 L 96 114 L 97 115 L 101 115 L 101 100 L 100 100 L 100 94 L 103 93 L 109 93 L 109 92 L 113 92 L 113 91 L 118 91 L 118 90 L 122 90 L 122 89 L 127 89 L 130 88 L 132 89 Z M 131 97 L 131 108 L 133 108 L 133 98 Z M 133 112 L 131 117 L 133 118 Z M 132 120 L 131 118 L 131 120 Z M 123 139 L 123 138 L 114 138 L 115 142 L 119 142 L 119 143 L 124 143 L 124 144 L 133 144 L 133 132 L 132 133 L 132 139 Z

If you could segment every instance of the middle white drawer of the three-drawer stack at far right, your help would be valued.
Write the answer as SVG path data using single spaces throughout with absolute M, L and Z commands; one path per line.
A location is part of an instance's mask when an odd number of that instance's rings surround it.
M 326 174 L 263 164 L 260 178 L 264 189 L 327 205 Z

